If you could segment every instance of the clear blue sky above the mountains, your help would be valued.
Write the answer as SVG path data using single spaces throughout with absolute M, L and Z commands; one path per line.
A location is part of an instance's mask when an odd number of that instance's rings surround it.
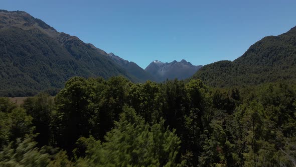
M 186 59 L 194 65 L 234 60 L 264 36 L 296 26 L 296 1 L 1 0 L 59 32 L 145 68 Z

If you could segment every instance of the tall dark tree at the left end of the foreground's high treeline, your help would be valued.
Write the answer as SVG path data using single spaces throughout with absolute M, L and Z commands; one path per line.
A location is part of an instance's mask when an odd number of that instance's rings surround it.
M 88 136 L 91 114 L 87 110 L 88 95 L 86 79 L 73 77 L 66 82 L 65 88 L 56 96 L 57 109 L 53 115 L 53 131 L 57 145 L 67 151 L 80 136 Z

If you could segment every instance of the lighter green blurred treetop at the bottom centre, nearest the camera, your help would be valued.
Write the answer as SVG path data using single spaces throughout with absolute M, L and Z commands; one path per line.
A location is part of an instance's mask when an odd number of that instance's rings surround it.
M 150 126 L 131 108 L 125 108 L 115 128 L 101 143 L 88 139 L 81 166 L 178 166 L 180 139 L 164 128 L 164 121 Z M 181 164 L 179 164 L 181 165 Z

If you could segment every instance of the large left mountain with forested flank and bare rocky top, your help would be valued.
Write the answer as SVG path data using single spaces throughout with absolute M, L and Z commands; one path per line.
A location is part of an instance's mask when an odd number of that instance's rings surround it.
M 0 96 L 55 92 L 72 76 L 114 75 L 140 80 L 92 44 L 26 12 L 0 10 Z

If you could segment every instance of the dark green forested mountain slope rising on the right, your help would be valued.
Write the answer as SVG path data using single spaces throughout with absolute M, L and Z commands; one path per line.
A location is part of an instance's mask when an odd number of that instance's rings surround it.
M 296 27 L 278 36 L 264 37 L 234 61 L 205 65 L 192 78 L 200 78 L 214 87 L 295 81 Z

